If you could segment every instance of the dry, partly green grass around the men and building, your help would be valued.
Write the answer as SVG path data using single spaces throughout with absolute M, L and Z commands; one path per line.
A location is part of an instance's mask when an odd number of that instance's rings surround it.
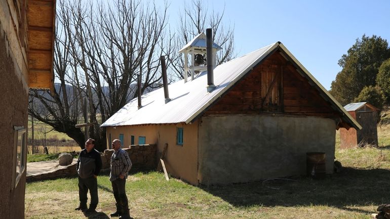
M 194 187 L 177 179 L 167 182 L 161 172 L 132 172 L 126 185 L 131 215 L 136 219 L 370 219 L 378 205 L 389 203 L 389 125 L 378 128 L 378 139 L 379 148 L 336 146 L 335 155 L 344 168 L 321 181 L 298 177 Z M 28 183 L 26 218 L 108 219 L 114 211 L 108 177 L 99 177 L 98 185 L 98 213 L 85 215 L 73 210 L 78 204 L 77 179 Z

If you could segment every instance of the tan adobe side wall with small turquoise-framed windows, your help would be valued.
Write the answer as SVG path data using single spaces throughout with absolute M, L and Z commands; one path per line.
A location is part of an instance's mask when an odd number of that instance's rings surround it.
M 182 129 L 182 136 L 178 138 L 178 129 Z M 192 124 L 166 125 L 132 125 L 107 127 L 107 143 L 124 138 L 124 148 L 131 145 L 131 136 L 134 144 L 139 144 L 139 138 L 145 138 L 145 144 L 156 144 L 161 153 L 165 144 L 168 148 L 165 154 L 165 166 L 172 176 L 183 179 L 193 185 L 198 185 L 198 122 Z M 181 140 L 181 142 L 178 142 Z M 108 144 L 107 144 L 108 145 Z M 111 145 L 111 144 L 109 144 Z M 109 147 L 107 147 L 109 149 Z M 160 154 L 158 155 L 160 159 Z

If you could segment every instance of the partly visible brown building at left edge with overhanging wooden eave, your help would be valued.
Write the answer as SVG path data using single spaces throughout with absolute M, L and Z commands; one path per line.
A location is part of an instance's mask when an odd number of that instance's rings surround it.
M 28 90 L 53 89 L 55 0 L 0 1 L 0 218 L 24 218 Z

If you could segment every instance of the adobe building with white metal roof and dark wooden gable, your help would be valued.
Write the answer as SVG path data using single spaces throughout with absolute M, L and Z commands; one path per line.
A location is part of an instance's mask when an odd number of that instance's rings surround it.
M 155 90 L 102 126 L 125 147 L 168 144 L 167 171 L 193 185 L 303 175 L 307 152 L 325 152 L 332 173 L 336 129 L 361 129 L 281 42 L 186 80 L 168 86 L 168 101 Z

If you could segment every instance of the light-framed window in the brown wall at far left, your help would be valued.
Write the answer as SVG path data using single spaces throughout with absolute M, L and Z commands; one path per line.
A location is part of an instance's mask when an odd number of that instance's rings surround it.
M 14 162 L 13 186 L 16 188 L 25 170 L 26 162 L 26 129 L 24 126 L 14 126 Z

